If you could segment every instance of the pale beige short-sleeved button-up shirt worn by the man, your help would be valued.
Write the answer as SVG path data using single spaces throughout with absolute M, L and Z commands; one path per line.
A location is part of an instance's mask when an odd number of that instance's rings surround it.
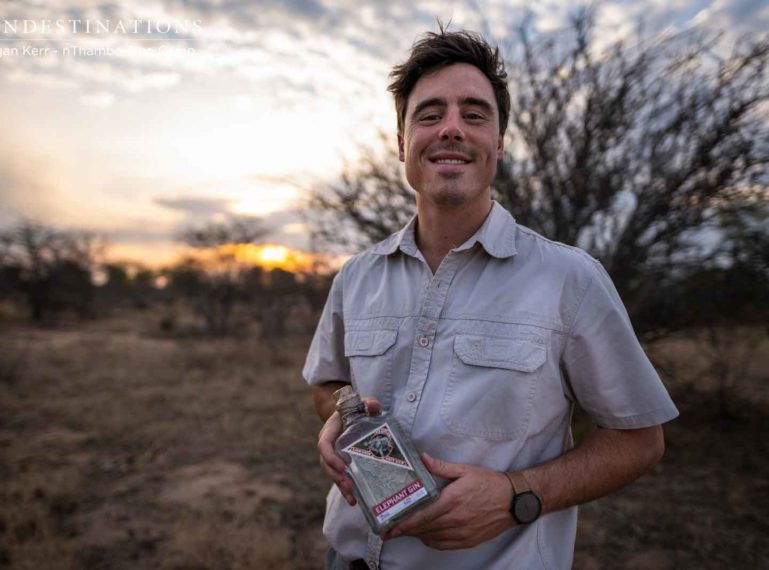
M 304 367 L 309 384 L 351 382 L 421 451 L 497 471 L 568 450 L 575 402 L 606 428 L 678 415 L 598 261 L 495 203 L 433 275 L 415 220 L 334 279 Z M 576 523 L 572 508 L 467 550 L 411 537 L 382 544 L 332 487 L 323 530 L 342 558 L 385 570 L 528 570 L 570 568 Z

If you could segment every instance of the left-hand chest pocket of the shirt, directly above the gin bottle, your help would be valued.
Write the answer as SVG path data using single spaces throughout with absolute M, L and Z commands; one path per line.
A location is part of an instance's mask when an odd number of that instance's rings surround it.
M 363 397 L 374 396 L 386 410 L 392 407 L 393 346 L 395 330 L 348 331 L 344 355 L 350 361 L 352 384 Z

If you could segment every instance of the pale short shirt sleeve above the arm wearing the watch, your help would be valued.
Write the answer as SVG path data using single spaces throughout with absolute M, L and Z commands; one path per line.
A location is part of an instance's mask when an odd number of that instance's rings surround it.
M 672 420 L 678 410 L 641 348 L 614 284 L 599 263 L 592 273 L 563 354 L 573 396 L 605 428 L 638 429 Z

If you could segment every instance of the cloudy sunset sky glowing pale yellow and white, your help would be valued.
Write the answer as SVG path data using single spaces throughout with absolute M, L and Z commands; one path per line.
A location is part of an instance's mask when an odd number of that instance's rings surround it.
M 310 248 L 306 193 L 383 131 L 390 68 L 437 19 L 504 42 L 566 0 L 0 0 L 0 227 L 105 236 L 113 259 L 171 262 L 185 228 L 260 216 Z M 597 35 L 769 29 L 762 0 L 605 1 Z

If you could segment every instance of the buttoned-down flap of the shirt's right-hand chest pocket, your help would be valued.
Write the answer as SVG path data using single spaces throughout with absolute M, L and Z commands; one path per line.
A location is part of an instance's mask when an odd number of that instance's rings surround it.
M 534 372 L 545 363 L 545 346 L 529 338 L 457 335 L 454 352 L 465 364 Z

